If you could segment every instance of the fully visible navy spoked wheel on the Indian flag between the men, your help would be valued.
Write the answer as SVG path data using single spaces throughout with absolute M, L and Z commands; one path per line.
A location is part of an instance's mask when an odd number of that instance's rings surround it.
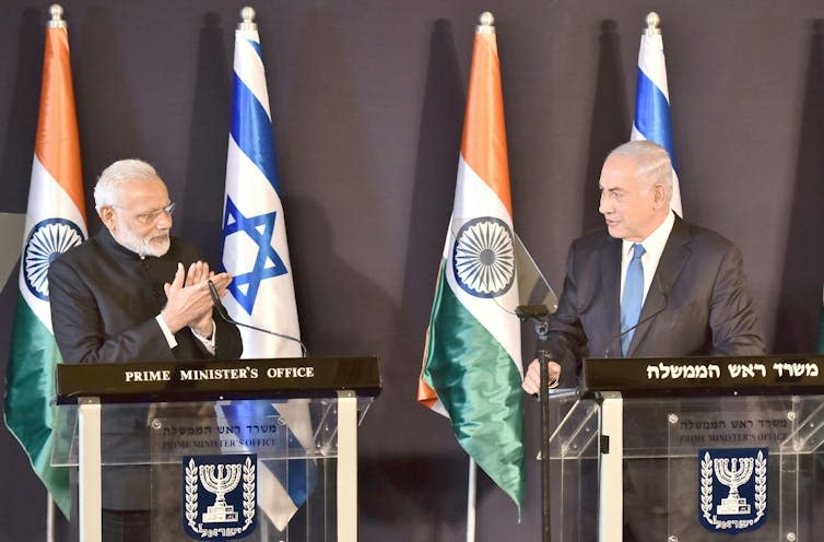
M 467 222 L 452 250 L 455 279 L 475 297 L 505 294 L 515 281 L 515 247 L 509 225 L 492 216 Z

